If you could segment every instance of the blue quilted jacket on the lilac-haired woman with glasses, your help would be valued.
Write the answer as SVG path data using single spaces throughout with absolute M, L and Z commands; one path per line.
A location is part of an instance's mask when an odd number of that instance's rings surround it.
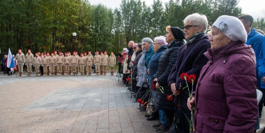
M 152 88 L 151 84 L 154 80 L 154 75 L 157 73 L 159 58 L 166 49 L 167 49 L 167 44 L 160 46 L 157 52 L 154 54 L 154 56 L 149 61 L 149 79 L 148 80 L 150 83 L 150 88 Z

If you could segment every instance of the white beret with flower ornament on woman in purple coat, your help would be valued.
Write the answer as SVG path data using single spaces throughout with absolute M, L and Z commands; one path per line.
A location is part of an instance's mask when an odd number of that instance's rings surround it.
M 233 41 L 241 40 L 242 43 L 247 42 L 247 32 L 242 22 L 233 16 L 220 16 L 213 23 L 213 26 L 217 27 L 222 33 L 224 33 L 229 39 Z

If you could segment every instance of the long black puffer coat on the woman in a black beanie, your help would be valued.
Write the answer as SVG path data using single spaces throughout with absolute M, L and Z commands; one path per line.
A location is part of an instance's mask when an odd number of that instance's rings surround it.
M 164 93 L 162 93 L 160 89 L 157 89 L 155 107 L 159 110 L 175 109 L 175 104 L 173 103 L 174 100 L 167 100 L 167 95 L 172 95 L 171 88 L 167 83 L 167 78 L 173 65 L 176 63 L 176 60 L 178 58 L 178 50 L 182 45 L 184 45 L 183 40 L 173 40 L 159 58 L 158 70 L 154 75 L 154 77 L 157 78 L 159 85 L 164 88 Z

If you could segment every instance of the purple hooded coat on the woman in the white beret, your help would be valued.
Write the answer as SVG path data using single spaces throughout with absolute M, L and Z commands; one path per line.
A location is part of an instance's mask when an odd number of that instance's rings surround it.
M 208 49 L 195 91 L 196 133 L 253 133 L 258 115 L 256 57 L 240 41 Z

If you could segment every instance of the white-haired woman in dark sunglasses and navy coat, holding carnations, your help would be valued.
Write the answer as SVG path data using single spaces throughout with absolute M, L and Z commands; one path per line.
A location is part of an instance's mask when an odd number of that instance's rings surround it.
M 184 133 L 189 132 L 189 121 L 186 116 L 190 119 L 191 111 L 186 102 L 189 98 L 189 95 L 187 95 L 189 94 L 188 89 L 179 90 L 180 86 L 181 88 L 186 86 L 186 81 L 182 80 L 180 75 L 182 73 L 194 74 L 198 78 L 202 67 L 207 63 L 208 59 L 203 55 L 210 48 L 209 36 L 205 33 L 207 25 L 206 16 L 198 13 L 191 14 L 184 19 L 183 29 L 187 43 L 179 49 L 178 59 L 167 80 L 173 94 L 178 95 L 175 102 L 178 101 L 180 106 L 179 125 L 183 126 Z M 194 84 L 194 90 L 195 86 L 196 84 Z M 189 88 L 192 88 L 192 84 L 189 84 Z

